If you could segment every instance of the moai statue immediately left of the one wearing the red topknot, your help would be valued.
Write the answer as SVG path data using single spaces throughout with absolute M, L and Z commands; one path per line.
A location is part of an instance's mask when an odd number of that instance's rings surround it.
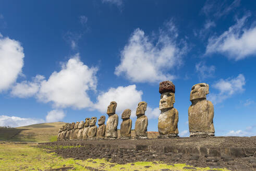
M 138 139 L 148 138 L 148 131 L 147 131 L 148 117 L 145 116 L 146 110 L 147 110 L 147 103 L 140 102 L 136 110 L 137 120 L 135 123 L 135 133 L 136 133 L 136 138 Z

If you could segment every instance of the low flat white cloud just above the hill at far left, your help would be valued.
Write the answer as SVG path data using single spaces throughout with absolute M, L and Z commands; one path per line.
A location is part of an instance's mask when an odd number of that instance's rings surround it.
M 16 116 L 0 115 L 0 126 L 21 127 L 44 122 L 45 121 L 43 119 L 20 118 Z

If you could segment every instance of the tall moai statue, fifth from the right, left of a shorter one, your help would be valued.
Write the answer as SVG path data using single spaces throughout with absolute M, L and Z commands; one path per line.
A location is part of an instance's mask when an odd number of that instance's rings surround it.
M 118 125 L 118 116 L 116 112 L 116 102 L 110 102 L 107 106 L 107 125 L 106 125 L 106 139 L 116 139 L 117 138 L 117 125 Z

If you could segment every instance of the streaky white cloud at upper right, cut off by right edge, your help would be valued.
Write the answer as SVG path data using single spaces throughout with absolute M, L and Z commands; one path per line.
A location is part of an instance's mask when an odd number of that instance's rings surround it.
M 234 60 L 256 55 L 256 26 L 245 28 L 249 16 L 237 19 L 237 23 L 220 36 L 209 38 L 205 54 L 221 53 Z

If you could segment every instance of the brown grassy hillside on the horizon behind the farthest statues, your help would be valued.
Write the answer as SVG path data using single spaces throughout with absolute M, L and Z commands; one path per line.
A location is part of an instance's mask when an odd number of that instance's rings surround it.
M 58 135 L 58 130 L 64 123 L 44 123 L 29 126 L 0 129 L 0 140 L 21 142 L 48 142 Z

